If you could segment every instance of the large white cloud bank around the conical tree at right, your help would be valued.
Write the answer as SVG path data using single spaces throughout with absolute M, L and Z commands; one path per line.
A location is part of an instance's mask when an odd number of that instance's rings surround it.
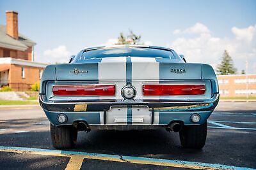
M 204 27 L 200 26 L 200 29 L 198 29 L 198 25 L 202 26 L 203 24 L 197 23 L 185 31 L 174 31 L 179 32 L 181 37 L 172 41 L 168 46 L 178 53 L 186 55 L 188 62 L 202 62 L 211 64 L 213 67 L 221 62 L 222 54 L 224 50 L 227 50 L 234 60 L 234 65 L 238 68 L 238 73 L 241 72 L 241 69 L 245 69 L 246 58 L 249 63 L 248 72 L 256 72 L 255 26 L 243 29 L 233 27 L 231 31 L 234 33 L 234 38 L 220 38 L 213 36 L 205 25 Z M 196 37 L 186 38 L 188 32 L 196 34 Z M 244 40 L 247 43 L 244 43 Z

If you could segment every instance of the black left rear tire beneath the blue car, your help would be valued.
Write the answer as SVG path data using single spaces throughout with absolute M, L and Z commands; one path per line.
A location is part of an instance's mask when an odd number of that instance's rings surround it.
M 52 145 L 56 149 L 74 148 L 77 140 L 77 129 L 72 125 L 55 126 L 51 124 Z

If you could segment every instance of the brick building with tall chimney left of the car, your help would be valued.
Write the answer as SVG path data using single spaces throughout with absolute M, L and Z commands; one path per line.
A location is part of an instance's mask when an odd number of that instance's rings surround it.
M 18 13 L 6 11 L 6 25 L 0 25 L 0 87 L 29 90 L 40 80 L 46 64 L 34 62 L 35 45 L 18 31 Z

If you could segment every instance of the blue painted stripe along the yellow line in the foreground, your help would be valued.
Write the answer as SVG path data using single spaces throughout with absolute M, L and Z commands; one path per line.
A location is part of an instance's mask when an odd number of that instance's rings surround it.
M 31 152 L 52 152 L 52 153 L 63 153 L 68 155 L 84 155 L 84 156 L 96 156 L 96 157 L 109 157 L 115 159 L 123 160 L 145 160 L 152 162 L 163 162 L 163 163 L 173 163 L 173 164 L 187 164 L 193 166 L 206 166 L 206 167 L 216 167 L 223 169 L 237 169 L 237 170 L 255 170 L 250 167 L 237 167 L 237 166 L 226 166 L 222 164 L 208 164 L 202 162 L 190 162 L 184 160 L 168 160 L 168 159 L 154 159 L 147 157 L 130 157 L 130 156 L 120 156 L 120 155 L 109 155 L 102 153 L 88 153 L 88 152 L 74 152 L 74 151 L 65 151 L 65 150 L 48 150 L 48 149 L 39 149 L 39 148 L 24 148 L 24 147 L 14 147 L 14 146 L 0 146 L 1 150 L 22 150 L 22 151 L 31 151 Z

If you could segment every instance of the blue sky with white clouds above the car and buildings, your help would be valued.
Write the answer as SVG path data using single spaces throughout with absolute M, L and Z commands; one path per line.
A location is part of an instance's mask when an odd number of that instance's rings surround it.
M 63 62 L 131 29 L 147 44 L 214 67 L 227 49 L 238 72 L 247 58 L 248 73 L 256 73 L 256 1 L 0 0 L 2 25 L 6 10 L 19 12 L 19 32 L 36 41 L 38 62 Z

